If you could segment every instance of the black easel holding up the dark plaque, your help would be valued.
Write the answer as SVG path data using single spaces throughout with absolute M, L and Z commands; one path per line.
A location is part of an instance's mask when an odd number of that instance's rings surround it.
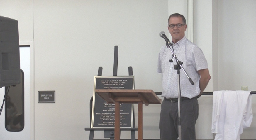
M 115 46 L 114 50 L 114 68 L 113 68 L 113 76 L 117 76 L 117 65 L 118 64 L 118 46 Z M 128 67 L 129 76 L 133 75 L 133 67 Z M 98 69 L 98 76 L 102 76 L 102 67 Z M 92 100 L 90 100 L 90 126 L 92 119 Z M 104 138 L 110 138 L 110 140 L 114 140 L 114 128 L 84 128 L 85 131 L 90 131 L 89 140 L 93 140 L 94 131 L 104 131 Z M 134 106 L 133 106 L 133 128 L 120 128 L 120 131 L 131 131 L 131 140 L 135 140 L 135 131 L 138 131 L 138 128 L 135 128 L 135 115 L 134 115 Z

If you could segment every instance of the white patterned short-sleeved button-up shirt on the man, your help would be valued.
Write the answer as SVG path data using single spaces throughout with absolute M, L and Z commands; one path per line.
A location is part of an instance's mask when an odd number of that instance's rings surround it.
M 197 71 L 208 69 L 204 54 L 185 36 L 177 43 L 173 43 L 173 49 L 178 60 L 183 62 L 183 68 L 194 82 L 194 85 L 191 85 L 186 74 L 180 69 L 181 96 L 196 97 L 200 93 L 200 75 Z M 173 60 L 172 63 L 169 62 L 170 59 Z M 176 60 L 172 58 L 171 50 L 162 46 L 158 56 L 157 72 L 162 73 L 162 97 L 165 98 L 178 98 L 178 74 L 177 70 L 173 68 L 174 65 L 176 65 Z

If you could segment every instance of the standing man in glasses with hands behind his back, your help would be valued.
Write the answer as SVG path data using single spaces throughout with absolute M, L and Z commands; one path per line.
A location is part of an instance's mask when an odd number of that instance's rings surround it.
M 211 76 L 202 50 L 185 37 L 186 19 L 181 14 L 172 14 L 168 19 L 168 30 L 172 36 L 174 53 L 183 62 L 182 66 L 193 80 L 191 85 L 187 76 L 180 70 L 181 87 L 181 133 L 184 140 L 195 140 L 195 124 L 198 118 L 197 97 L 206 88 Z M 172 59 L 173 62 L 169 62 Z M 174 70 L 176 60 L 171 51 L 163 46 L 158 57 L 157 72 L 162 73 L 162 97 L 160 113 L 161 140 L 177 140 L 178 138 L 178 74 Z

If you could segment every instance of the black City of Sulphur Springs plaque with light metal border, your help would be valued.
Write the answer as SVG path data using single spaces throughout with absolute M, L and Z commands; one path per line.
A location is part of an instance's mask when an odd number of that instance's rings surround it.
M 95 89 L 134 89 L 135 76 L 94 76 L 91 128 L 115 127 L 115 104 L 108 104 Z M 120 127 L 132 128 L 133 104 L 120 104 Z

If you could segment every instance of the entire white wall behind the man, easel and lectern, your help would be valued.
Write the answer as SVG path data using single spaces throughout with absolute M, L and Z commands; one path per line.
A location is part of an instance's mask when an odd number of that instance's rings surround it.
M 104 76 L 113 74 L 115 45 L 119 46 L 118 75 L 128 75 L 132 66 L 136 89 L 161 92 L 156 62 L 164 41 L 158 34 L 168 34 L 171 13 L 186 17 L 186 0 L 0 3 L 0 15 L 19 21 L 20 40 L 34 41 L 34 139 L 89 137 L 84 127 L 89 127 L 93 78 L 99 66 Z M 241 85 L 255 91 L 254 62 L 249 61 L 256 51 L 255 6 L 252 0 L 194 0 L 194 42 L 206 55 L 212 75 L 206 92 L 240 90 Z M 42 90 L 55 90 L 56 103 L 38 104 L 37 94 Z M 211 95 L 202 96 L 199 104 L 197 139 L 212 139 Z M 144 106 L 143 138 L 159 138 L 159 112 L 160 105 Z M 253 122 L 241 138 L 255 139 L 255 126 Z M 102 132 L 95 135 L 103 138 Z M 130 134 L 122 132 L 121 137 L 130 138 Z

